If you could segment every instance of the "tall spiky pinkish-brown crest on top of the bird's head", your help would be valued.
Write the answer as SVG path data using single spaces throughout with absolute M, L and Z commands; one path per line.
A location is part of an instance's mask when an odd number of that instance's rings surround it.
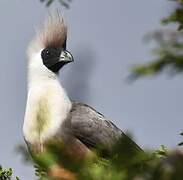
M 47 47 L 63 47 L 67 39 L 67 26 L 59 12 L 46 18 L 28 47 L 28 56 Z

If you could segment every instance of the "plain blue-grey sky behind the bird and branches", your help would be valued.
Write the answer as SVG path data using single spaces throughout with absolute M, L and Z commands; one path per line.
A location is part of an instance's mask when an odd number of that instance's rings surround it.
M 49 11 L 59 9 L 68 25 L 68 50 L 75 62 L 60 72 L 68 96 L 84 102 L 131 132 L 142 148 L 175 147 L 183 129 L 182 75 L 166 74 L 127 83 L 133 64 L 153 59 L 143 37 L 161 29 L 171 10 L 166 0 L 73 0 L 69 10 L 38 0 L 0 1 L 0 164 L 22 179 L 33 168 L 15 152 L 24 144 L 26 48 Z

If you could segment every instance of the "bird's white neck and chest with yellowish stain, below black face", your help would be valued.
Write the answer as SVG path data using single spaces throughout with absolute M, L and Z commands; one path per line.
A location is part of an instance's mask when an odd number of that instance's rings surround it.
M 31 144 L 42 144 L 62 131 L 63 122 L 71 110 L 71 101 L 58 75 L 39 60 L 31 60 L 28 67 L 28 97 L 23 132 L 26 141 Z

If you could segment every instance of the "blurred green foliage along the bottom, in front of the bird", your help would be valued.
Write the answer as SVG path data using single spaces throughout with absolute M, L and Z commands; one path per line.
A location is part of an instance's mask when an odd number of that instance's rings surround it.
M 155 152 L 139 151 L 129 138 L 123 137 L 110 152 L 93 149 L 95 158 L 78 159 L 68 154 L 63 144 L 49 144 L 47 151 L 33 154 L 36 175 L 51 180 L 50 169 L 61 165 L 79 180 L 181 180 L 183 177 L 183 152 L 168 152 L 162 146 Z M 60 176 L 59 176 L 60 178 Z

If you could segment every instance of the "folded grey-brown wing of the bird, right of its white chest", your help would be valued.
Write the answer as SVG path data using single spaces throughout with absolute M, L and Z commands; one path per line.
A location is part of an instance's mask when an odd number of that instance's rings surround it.
M 71 131 L 87 147 L 102 145 L 110 148 L 122 136 L 127 137 L 102 114 L 86 104 L 77 102 L 72 104 Z M 132 143 L 140 150 L 133 141 Z

